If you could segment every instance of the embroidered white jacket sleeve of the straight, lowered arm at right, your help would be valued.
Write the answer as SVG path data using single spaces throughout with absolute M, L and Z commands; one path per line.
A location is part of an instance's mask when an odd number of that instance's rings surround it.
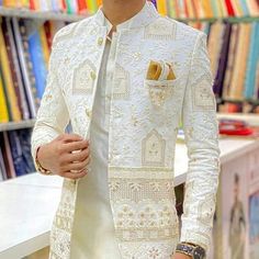
M 199 32 L 182 105 L 182 125 L 188 148 L 180 241 L 205 250 L 211 245 L 219 176 L 218 122 L 206 34 Z

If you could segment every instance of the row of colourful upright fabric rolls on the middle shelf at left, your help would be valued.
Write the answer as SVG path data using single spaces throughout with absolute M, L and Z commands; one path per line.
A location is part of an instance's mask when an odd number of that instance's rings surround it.
M 65 24 L 0 20 L 0 123 L 35 117 L 46 85 L 52 40 Z

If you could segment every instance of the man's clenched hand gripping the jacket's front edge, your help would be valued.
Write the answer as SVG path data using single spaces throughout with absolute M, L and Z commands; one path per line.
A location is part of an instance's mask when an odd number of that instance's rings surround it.
M 44 168 L 60 177 L 78 179 L 88 172 L 89 155 L 89 140 L 77 134 L 61 134 L 40 147 L 37 159 Z

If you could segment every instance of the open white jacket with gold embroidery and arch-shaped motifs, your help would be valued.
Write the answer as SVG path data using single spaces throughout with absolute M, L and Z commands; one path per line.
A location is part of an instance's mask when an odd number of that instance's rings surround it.
M 104 50 L 103 13 L 59 30 L 32 135 L 36 148 L 64 133 L 88 137 Z M 109 132 L 109 190 L 122 258 L 168 259 L 179 240 L 210 246 L 219 173 L 218 124 L 206 35 L 161 16 L 151 3 L 117 38 Z M 147 79 L 150 60 L 176 79 Z M 182 226 L 176 211 L 173 159 L 182 121 L 189 167 Z M 50 258 L 70 258 L 78 181 L 64 178 L 50 232 Z M 181 230 L 181 233 L 179 232 Z

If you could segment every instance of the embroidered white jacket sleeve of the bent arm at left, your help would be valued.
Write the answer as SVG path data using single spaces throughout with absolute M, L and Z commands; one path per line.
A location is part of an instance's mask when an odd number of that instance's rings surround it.
M 37 147 L 47 144 L 65 132 L 69 123 L 69 113 L 58 81 L 58 60 L 56 50 L 57 35 L 53 38 L 52 53 L 48 63 L 46 87 L 36 114 L 35 125 L 31 136 L 31 154 L 36 168 L 35 158 Z

